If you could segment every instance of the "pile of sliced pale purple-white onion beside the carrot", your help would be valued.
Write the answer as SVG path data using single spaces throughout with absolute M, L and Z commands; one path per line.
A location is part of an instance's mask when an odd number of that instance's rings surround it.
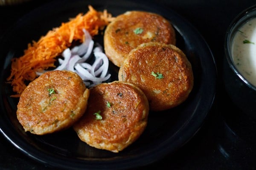
M 64 59 L 58 59 L 60 65 L 54 70 L 69 70 L 76 72 L 81 79 L 83 79 L 84 84 L 90 88 L 94 85 L 100 84 L 107 81 L 111 74 L 108 73 L 108 57 L 102 52 L 101 45 L 93 49 L 94 41 L 90 36 L 89 32 L 84 31 L 85 41 L 78 46 L 73 47 L 71 50 L 67 48 L 63 51 L 62 56 Z M 93 51 L 95 61 L 92 65 L 87 63 L 87 59 L 90 57 Z M 41 73 L 36 72 L 37 75 L 41 75 L 46 71 Z

